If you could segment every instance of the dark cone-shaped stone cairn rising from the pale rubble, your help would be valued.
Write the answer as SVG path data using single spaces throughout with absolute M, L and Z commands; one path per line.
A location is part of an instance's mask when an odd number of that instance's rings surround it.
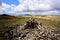
M 34 18 L 30 18 L 26 22 L 25 28 L 38 28 L 37 26 L 39 26 L 39 23 Z

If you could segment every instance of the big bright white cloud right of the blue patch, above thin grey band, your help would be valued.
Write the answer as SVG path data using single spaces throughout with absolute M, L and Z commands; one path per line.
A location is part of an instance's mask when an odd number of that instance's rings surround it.
M 30 10 L 60 9 L 60 0 L 19 0 L 19 2 Z

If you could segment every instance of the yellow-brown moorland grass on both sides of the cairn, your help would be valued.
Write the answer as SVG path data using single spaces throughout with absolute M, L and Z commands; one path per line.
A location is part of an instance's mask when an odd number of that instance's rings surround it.
M 29 18 L 30 17 L 22 17 L 22 16 L 16 16 L 16 17 L 0 16 L 0 31 L 7 30 L 10 26 L 23 24 L 27 20 L 29 20 Z M 43 25 L 60 27 L 60 16 L 44 16 L 44 17 L 35 16 L 34 18 Z

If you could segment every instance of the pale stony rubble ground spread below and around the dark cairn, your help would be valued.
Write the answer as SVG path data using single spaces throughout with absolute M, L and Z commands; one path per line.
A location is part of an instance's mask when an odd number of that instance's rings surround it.
M 24 29 L 24 25 L 18 25 L 16 28 L 10 30 L 5 34 L 7 40 L 60 40 L 60 28 L 55 28 L 51 26 L 40 26 L 37 28 L 27 28 Z

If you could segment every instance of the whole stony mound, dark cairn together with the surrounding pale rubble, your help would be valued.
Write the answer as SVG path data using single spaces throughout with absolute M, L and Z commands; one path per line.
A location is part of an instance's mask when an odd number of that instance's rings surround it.
M 17 25 L 16 28 L 10 28 L 8 32 L 12 33 L 10 35 L 12 37 L 11 40 L 60 40 L 60 34 L 54 33 L 56 31 L 55 28 L 37 25 L 39 23 L 35 24 L 35 21 L 32 21 L 33 27 L 31 21 L 23 25 Z M 9 35 L 7 36 L 9 37 Z

